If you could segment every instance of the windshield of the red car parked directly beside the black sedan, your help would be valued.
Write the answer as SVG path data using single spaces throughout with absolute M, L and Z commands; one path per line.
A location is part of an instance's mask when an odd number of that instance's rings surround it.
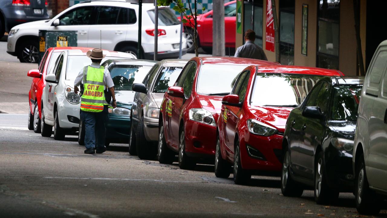
M 250 103 L 253 106 L 296 107 L 322 76 L 257 73 Z

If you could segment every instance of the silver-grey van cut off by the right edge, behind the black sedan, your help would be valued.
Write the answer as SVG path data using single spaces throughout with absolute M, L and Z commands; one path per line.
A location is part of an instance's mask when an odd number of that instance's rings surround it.
M 376 215 L 387 196 L 387 40 L 378 46 L 365 76 L 352 162 L 356 208 Z

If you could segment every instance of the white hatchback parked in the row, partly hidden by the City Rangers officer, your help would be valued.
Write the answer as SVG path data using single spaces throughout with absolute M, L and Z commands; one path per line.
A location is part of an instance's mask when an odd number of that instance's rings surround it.
M 80 97 L 74 93 L 74 80 L 79 71 L 91 64 L 86 56 L 90 48 L 63 50 L 47 73 L 46 86 L 43 88 L 41 134 L 50 137 L 54 126 L 55 140 L 63 140 L 65 135 L 78 131 Z M 108 59 L 135 59 L 132 54 L 103 50 Z

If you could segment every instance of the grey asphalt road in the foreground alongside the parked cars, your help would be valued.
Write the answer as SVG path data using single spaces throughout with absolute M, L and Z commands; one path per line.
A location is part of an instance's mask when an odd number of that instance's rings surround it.
M 84 154 L 76 136 L 55 141 L 26 126 L 26 115 L 0 114 L 0 217 L 359 217 L 349 193 L 317 205 L 311 190 L 282 196 L 277 177 L 235 185 L 210 165 L 143 161 L 125 144 Z

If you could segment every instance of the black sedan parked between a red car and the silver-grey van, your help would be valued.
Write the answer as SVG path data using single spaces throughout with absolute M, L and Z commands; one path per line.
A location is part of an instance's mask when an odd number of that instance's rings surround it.
M 281 191 L 313 187 L 317 204 L 353 192 L 352 149 L 363 78 L 324 77 L 291 111 L 283 139 Z

